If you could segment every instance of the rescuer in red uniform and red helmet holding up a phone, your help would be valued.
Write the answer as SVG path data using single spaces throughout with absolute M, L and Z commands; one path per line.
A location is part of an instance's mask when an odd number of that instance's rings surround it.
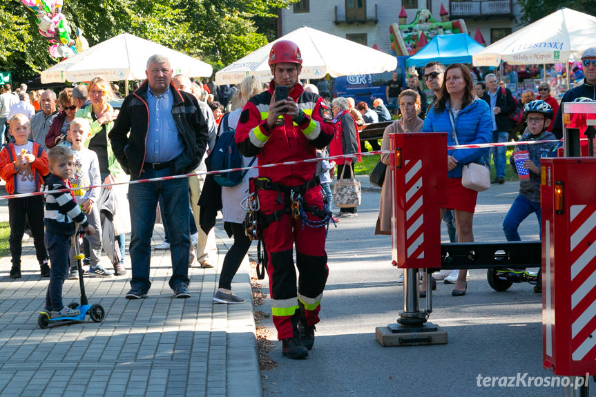
M 240 115 L 235 140 L 244 156 L 258 156 L 259 165 L 316 158 L 334 136 L 329 108 L 305 92 L 298 82 L 300 49 L 278 41 L 269 54 L 273 79 L 269 90 L 252 97 Z M 276 86 L 289 96 L 276 101 Z M 327 282 L 325 234 L 330 213 L 324 210 L 316 163 L 261 168 L 255 182 L 259 222 L 267 249 L 267 273 L 273 323 L 283 355 L 305 358 L 314 344 L 320 300 Z M 296 269 L 292 249 L 296 245 Z

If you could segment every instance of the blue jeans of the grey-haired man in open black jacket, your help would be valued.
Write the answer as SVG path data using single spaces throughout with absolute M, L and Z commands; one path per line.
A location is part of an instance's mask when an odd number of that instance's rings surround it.
M 170 176 L 169 168 L 163 170 L 145 169 L 141 179 Z M 139 178 L 131 178 L 135 180 Z M 189 285 L 189 251 L 191 237 L 189 232 L 189 180 L 186 178 L 159 182 L 144 182 L 128 186 L 128 202 L 131 209 L 131 255 L 133 278 L 131 287 L 142 287 L 148 291 L 149 264 L 151 263 L 151 236 L 155 226 L 157 199 L 164 198 L 164 213 L 170 233 L 170 255 L 172 276 L 169 285 L 175 289 L 178 285 Z

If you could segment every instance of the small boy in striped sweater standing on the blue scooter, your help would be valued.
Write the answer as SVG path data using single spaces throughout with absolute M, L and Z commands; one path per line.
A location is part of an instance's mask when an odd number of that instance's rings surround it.
M 55 146 L 48 152 L 50 175 L 46 178 L 44 191 L 70 188 L 69 178 L 75 168 L 74 154 L 66 146 Z M 81 224 L 88 234 L 95 233 L 85 214 L 75 202 L 72 191 L 49 193 L 46 195 L 46 246 L 52 263 L 50 284 L 46 293 L 46 311 L 51 317 L 77 316 L 78 309 L 70 309 L 62 304 L 62 284 L 68 277 L 70 242 L 76 233 L 75 222 Z

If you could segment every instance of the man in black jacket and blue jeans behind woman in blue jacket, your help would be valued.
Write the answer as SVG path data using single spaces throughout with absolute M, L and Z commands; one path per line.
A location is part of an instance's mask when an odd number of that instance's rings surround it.
M 488 88 L 489 106 L 492 110 L 492 142 L 508 142 L 511 131 L 509 115 L 515 112 L 515 99 L 508 88 L 499 88 L 497 76 L 493 73 L 486 75 L 484 81 Z M 497 180 L 493 182 L 499 182 L 499 184 L 505 182 L 506 152 L 507 146 L 490 148 L 492 162 L 497 170 Z

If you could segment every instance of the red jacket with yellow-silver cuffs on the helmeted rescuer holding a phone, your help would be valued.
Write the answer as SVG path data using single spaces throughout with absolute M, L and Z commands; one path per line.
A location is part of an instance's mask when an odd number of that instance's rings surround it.
M 304 119 L 298 125 L 290 116 L 284 115 L 278 119 L 280 125 L 269 128 L 267 116 L 274 91 L 275 81 L 271 80 L 269 90 L 255 95 L 244 106 L 235 134 L 238 151 L 246 157 L 256 155 L 260 166 L 316 158 L 316 149 L 327 146 L 335 132 L 329 108 L 321 97 L 305 92 L 300 84 L 296 84 L 289 96 L 305 113 Z M 259 170 L 260 177 L 268 177 L 271 182 L 285 186 L 304 184 L 315 173 L 316 162 Z

